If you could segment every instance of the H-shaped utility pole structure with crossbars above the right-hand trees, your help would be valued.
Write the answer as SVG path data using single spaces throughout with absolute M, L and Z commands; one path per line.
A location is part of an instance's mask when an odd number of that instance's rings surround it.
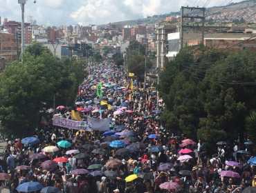
M 189 15 L 184 15 L 184 10 L 201 10 L 201 16 L 196 15 L 196 16 L 189 16 Z M 194 27 L 194 26 L 189 26 L 189 25 L 184 25 L 183 19 L 184 18 L 189 18 L 189 19 L 201 19 L 201 26 L 196 26 L 201 28 L 201 44 L 203 44 L 204 40 L 204 25 L 205 25 L 205 8 L 195 8 L 195 7 L 181 7 L 181 31 L 180 31 L 180 49 L 183 48 L 183 27 Z

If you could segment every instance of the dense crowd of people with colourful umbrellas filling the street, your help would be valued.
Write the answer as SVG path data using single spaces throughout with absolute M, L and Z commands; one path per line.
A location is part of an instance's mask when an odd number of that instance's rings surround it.
M 109 118 L 108 131 L 54 126 L 53 114 L 72 119 L 71 109 L 63 107 L 46 112 L 46 121 L 28 141 L 6 139 L 0 170 L 10 177 L 2 179 L 0 174 L 0 192 L 3 187 L 21 192 L 19 185 L 28 182 L 64 193 L 235 193 L 256 187 L 256 160 L 251 159 L 249 141 L 222 141 L 210 155 L 203 139 L 195 143 L 163 128 L 165 103 L 158 98 L 155 83 L 147 81 L 144 86 L 131 79 L 113 61 L 103 61 L 80 85 L 75 104 L 81 119 Z M 100 101 L 109 106 L 101 108 Z

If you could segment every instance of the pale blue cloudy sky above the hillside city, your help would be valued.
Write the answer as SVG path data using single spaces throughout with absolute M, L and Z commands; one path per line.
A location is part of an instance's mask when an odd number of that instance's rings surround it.
M 241 0 L 233 0 L 236 3 Z M 177 12 L 181 6 L 226 6 L 230 0 L 28 0 L 25 18 L 33 16 L 38 25 L 68 26 L 107 24 L 141 19 L 154 14 Z M 21 21 L 18 0 L 0 0 L 0 17 Z

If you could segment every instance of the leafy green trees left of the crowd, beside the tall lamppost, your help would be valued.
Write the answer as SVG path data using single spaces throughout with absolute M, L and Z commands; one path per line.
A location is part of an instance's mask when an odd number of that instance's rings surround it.
M 84 79 L 81 63 L 58 61 L 44 49 L 42 44 L 33 43 L 24 63 L 15 61 L 1 74 L 1 133 L 8 137 L 33 134 L 42 107 L 53 107 L 54 97 L 56 105 L 71 105 Z

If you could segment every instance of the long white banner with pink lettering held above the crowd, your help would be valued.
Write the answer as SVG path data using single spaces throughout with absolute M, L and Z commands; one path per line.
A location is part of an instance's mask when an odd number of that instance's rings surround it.
M 91 132 L 91 123 L 88 121 L 75 121 L 72 119 L 65 119 L 62 116 L 53 115 L 53 125 L 69 128 L 73 130 L 85 130 Z

